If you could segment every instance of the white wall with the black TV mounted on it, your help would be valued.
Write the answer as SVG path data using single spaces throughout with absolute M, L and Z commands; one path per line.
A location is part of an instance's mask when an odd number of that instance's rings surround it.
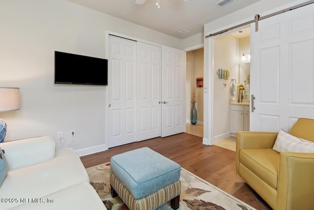
M 0 26 L 0 87 L 21 93 L 20 110 L 0 113 L 6 141 L 63 131 L 66 147 L 76 130 L 80 154 L 105 149 L 107 87 L 54 85 L 54 51 L 107 58 L 106 30 L 183 48 L 181 39 L 67 0 L 1 0 Z

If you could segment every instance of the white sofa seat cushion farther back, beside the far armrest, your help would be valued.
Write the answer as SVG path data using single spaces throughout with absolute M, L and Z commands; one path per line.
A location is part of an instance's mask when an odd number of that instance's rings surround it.
M 78 155 L 71 148 L 44 163 L 9 170 L 0 186 L 3 198 L 41 198 L 72 185 L 88 182 L 89 177 Z M 74 194 L 78 192 L 73 192 Z M 0 209 L 20 204 L 0 203 Z

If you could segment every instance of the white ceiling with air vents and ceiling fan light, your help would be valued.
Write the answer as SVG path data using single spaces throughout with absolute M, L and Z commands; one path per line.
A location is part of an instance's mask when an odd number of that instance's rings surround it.
M 69 0 L 105 14 L 160 31 L 180 39 L 204 32 L 204 24 L 235 12 L 260 0 L 234 0 L 223 7 L 215 5 L 220 0 Z M 181 28 L 191 30 L 180 34 Z

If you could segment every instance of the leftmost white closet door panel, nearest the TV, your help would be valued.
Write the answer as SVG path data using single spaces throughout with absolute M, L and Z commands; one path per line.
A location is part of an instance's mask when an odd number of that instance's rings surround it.
M 136 41 L 109 35 L 109 144 L 136 141 Z

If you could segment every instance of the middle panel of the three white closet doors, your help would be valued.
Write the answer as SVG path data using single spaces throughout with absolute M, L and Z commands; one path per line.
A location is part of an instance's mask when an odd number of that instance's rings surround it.
M 137 42 L 137 141 L 161 134 L 161 47 Z

